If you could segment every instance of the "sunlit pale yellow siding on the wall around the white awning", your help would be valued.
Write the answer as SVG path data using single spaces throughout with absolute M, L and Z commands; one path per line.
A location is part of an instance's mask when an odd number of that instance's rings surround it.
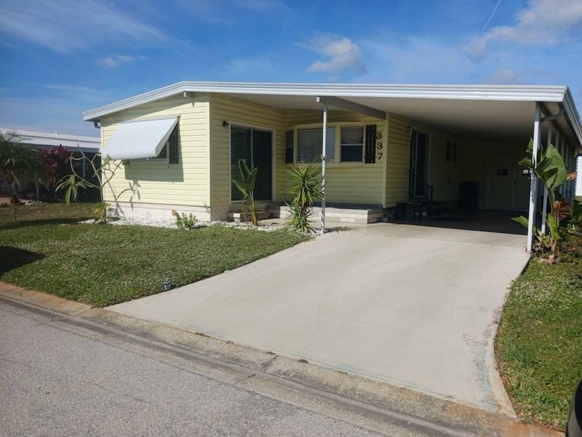
M 179 115 L 179 164 L 132 160 L 122 165 L 111 180 L 120 202 L 166 205 L 209 205 L 209 103 L 206 96 L 167 98 L 103 117 L 101 121 L 103 154 L 118 123 L 153 117 Z M 136 192 L 125 191 L 136 186 Z M 105 200 L 114 201 L 109 189 Z

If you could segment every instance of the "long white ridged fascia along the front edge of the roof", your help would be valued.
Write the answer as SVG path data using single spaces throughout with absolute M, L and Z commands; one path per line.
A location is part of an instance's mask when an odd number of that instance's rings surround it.
M 389 97 L 435 98 L 475 101 L 543 101 L 562 102 L 567 92 L 565 86 L 547 85 L 381 85 L 334 83 L 235 83 L 235 82 L 179 82 L 154 89 L 138 96 L 83 112 L 85 121 L 98 121 L 100 117 L 133 108 L 161 98 L 185 92 L 223 94 L 263 94 L 281 96 L 337 96 L 337 97 Z

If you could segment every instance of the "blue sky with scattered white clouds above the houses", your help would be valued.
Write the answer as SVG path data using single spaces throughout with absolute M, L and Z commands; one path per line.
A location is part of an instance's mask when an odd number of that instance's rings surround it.
M 570 85 L 582 0 L 2 0 L 0 126 L 96 135 L 80 112 L 180 80 Z

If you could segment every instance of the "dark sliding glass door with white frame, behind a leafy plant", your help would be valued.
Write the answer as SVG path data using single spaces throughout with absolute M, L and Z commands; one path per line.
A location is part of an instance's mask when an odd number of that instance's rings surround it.
M 239 161 L 249 169 L 258 167 L 254 199 L 272 200 L 273 133 L 267 130 L 231 126 L 231 200 L 243 200 L 233 180 L 241 180 Z

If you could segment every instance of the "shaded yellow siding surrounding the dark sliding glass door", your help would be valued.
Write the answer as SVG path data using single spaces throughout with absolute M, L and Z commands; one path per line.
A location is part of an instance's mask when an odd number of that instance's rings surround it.
M 224 94 L 212 94 L 210 106 L 210 174 L 211 174 L 211 214 L 223 219 L 230 209 L 230 138 L 231 125 L 272 130 L 274 139 L 274 186 L 281 186 L 282 167 L 285 162 L 285 114 L 283 110 L 258 103 L 243 101 Z M 281 198 L 279 192 L 276 199 Z

